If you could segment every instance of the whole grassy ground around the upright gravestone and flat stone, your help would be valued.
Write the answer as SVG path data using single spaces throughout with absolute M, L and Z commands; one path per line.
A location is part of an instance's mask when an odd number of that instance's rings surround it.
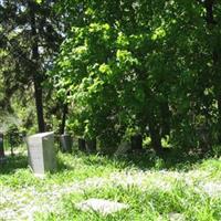
M 178 161 L 130 155 L 59 154 L 59 169 L 36 178 L 27 154 L 0 168 L 0 220 L 221 220 L 221 159 Z M 129 209 L 102 215 L 75 204 L 98 198 Z

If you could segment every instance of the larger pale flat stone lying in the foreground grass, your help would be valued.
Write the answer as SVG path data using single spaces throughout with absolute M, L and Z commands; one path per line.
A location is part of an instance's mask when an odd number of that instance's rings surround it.
M 104 199 L 88 199 L 86 201 L 77 203 L 76 208 L 82 211 L 94 211 L 105 215 L 118 212 L 123 209 L 128 209 L 129 206 Z

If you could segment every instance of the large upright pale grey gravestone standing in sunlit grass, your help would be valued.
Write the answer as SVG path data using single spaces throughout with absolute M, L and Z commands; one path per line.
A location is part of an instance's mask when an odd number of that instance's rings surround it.
M 56 169 L 54 133 L 41 133 L 27 138 L 29 165 L 35 175 Z

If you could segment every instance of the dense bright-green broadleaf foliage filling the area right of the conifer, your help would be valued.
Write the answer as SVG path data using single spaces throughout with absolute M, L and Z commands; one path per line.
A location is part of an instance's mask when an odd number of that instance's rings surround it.
M 52 75 L 73 104 L 70 127 L 109 146 L 133 130 L 150 136 L 156 150 L 165 136 L 186 149 L 218 144 L 221 6 L 209 6 L 215 23 L 204 19 L 207 6 L 61 2 L 72 29 Z

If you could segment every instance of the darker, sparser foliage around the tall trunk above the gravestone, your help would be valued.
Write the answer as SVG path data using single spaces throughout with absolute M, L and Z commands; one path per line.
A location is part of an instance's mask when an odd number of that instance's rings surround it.
M 44 126 L 44 117 L 59 106 L 50 104 L 52 86 L 46 75 L 62 41 L 62 22 L 54 8 L 53 0 L 0 2 L 0 115 L 19 118 L 27 130 L 38 131 L 36 119 Z

